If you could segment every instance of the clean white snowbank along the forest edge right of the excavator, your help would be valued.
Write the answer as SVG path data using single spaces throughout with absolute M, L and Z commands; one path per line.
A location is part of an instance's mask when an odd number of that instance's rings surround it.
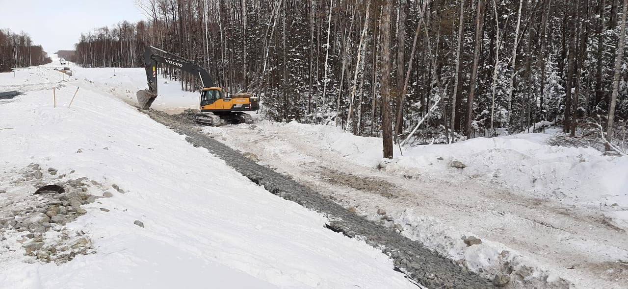
M 394 160 L 381 157 L 381 139 L 358 137 L 330 125 L 290 122 L 303 135 L 320 139 L 323 147 L 357 164 L 383 166 L 406 175 L 443 176 L 455 172 L 473 179 L 498 183 L 589 206 L 619 204 L 628 209 L 628 157 L 606 156 L 591 147 L 559 147 L 546 143 L 551 134 L 516 134 L 477 138 L 450 145 L 394 147 Z M 261 128 L 260 128 L 261 129 Z M 439 160 L 439 158 L 443 160 Z M 450 166 L 463 162 L 463 170 Z

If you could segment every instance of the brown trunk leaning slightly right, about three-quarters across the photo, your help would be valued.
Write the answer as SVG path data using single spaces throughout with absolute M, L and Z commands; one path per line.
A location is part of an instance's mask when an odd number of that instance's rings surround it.
M 470 139 L 472 135 L 471 123 L 474 119 L 473 112 L 473 102 L 475 97 L 475 81 L 477 80 L 477 67 L 480 62 L 480 51 L 482 49 L 482 37 L 483 34 L 483 26 L 484 26 L 484 7 L 486 3 L 484 0 L 478 0 L 477 4 L 477 14 L 475 15 L 475 50 L 474 50 L 474 59 L 473 59 L 473 67 L 471 68 L 471 79 L 469 80 L 469 96 L 467 100 L 467 125 L 465 125 L 465 130 L 467 132 L 467 137 Z

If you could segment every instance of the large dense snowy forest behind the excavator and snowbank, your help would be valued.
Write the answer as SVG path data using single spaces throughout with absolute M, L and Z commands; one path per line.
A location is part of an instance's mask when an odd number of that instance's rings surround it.
M 383 136 L 384 155 L 418 127 L 438 143 L 595 123 L 610 140 L 628 117 L 627 2 L 141 0 L 145 21 L 85 31 L 75 61 L 141 67 L 153 45 L 256 93 L 273 120 Z

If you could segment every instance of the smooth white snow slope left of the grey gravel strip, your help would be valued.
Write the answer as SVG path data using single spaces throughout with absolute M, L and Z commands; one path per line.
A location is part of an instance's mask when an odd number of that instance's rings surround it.
M 0 73 L 0 91 L 25 93 L 0 100 L 0 199 L 11 200 L 0 210 L 35 191 L 18 176 L 31 163 L 45 171 L 41 180 L 87 177 L 112 195 L 56 227 L 94 243 L 95 252 L 62 265 L 24 256 L 16 240 L 32 234 L 5 227 L 0 288 L 416 288 L 379 250 L 326 229 L 322 215 L 122 102 L 145 80 L 109 71 L 75 68 L 70 81 L 45 67 Z M 191 99 L 180 95 L 170 108 Z

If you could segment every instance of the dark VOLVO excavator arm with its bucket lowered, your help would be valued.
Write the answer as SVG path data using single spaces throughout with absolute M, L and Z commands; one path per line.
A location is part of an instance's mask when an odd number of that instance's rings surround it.
M 154 53 L 154 50 L 161 51 L 167 56 L 161 56 Z M 137 93 L 138 103 L 142 109 L 148 109 L 157 97 L 157 65 L 168 65 L 178 70 L 186 71 L 200 79 L 203 88 L 215 87 L 214 80 L 211 78 L 207 70 L 201 66 L 195 65 L 192 61 L 167 51 L 146 47 L 144 50 L 144 69 L 146 70 L 146 79 L 148 80 L 148 90 L 140 90 Z

